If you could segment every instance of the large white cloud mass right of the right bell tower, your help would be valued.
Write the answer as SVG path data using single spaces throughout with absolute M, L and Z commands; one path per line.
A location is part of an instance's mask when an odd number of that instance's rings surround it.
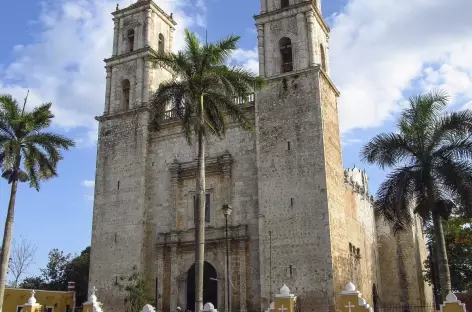
M 470 0 L 351 0 L 332 17 L 330 63 L 340 126 L 382 125 L 406 91 L 472 100 Z

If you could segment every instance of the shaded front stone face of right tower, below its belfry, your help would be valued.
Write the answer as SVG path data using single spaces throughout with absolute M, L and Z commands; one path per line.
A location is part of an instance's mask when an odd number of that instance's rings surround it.
M 285 75 L 268 80 L 256 97 L 260 280 L 265 308 L 271 290 L 284 283 L 306 306 L 327 305 L 332 298 L 317 81 L 316 69 Z

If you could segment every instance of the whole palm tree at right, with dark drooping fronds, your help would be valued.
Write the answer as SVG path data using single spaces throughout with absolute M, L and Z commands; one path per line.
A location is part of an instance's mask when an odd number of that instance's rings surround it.
M 441 220 L 455 207 L 453 199 L 472 207 L 472 111 L 447 112 L 448 99 L 442 91 L 411 97 L 397 132 L 375 136 L 361 151 L 365 161 L 393 168 L 375 206 L 395 230 L 411 225 L 412 211 L 432 220 L 443 297 L 451 278 Z

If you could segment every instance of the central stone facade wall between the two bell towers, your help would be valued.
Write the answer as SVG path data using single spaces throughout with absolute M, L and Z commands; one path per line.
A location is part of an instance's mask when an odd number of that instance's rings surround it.
M 246 110 L 249 116 L 254 115 L 253 106 L 248 106 Z M 230 125 L 224 140 L 208 137 L 205 144 L 206 189 L 210 194 L 211 203 L 211 219 L 207 223 L 206 237 L 215 240 L 208 243 L 206 259 L 217 269 L 220 277 L 225 278 L 223 231 L 225 218 L 221 207 L 229 203 L 234 209 L 229 217 L 229 226 L 231 228 L 245 226 L 242 234 L 237 234 L 238 230 L 230 231 L 230 240 L 233 236 L 247 238 L 243 240 L 244 242 L 239 240 L 232 242 L 230 270 L 233 276 L 232 283 L 237 288 L 236 291 L 233 290 L 232 307 L 242 306 L 240 294 L 244 288 L 247 300 L 242 299 L 242 301 L 246 302 L 248 309 L 254 310 L 258 308 L 255 304 L 259 302 L 255 133 Z M 160 285 L 161 289 L 170 290 L 169 306 L 163 303 L 165 311 L 167 307 L 174 309 L 177 303 L 185 306 L 183 284 L 172 286 L 171 282 L 176 277 L 185 275 L 195 259 L 193 196 L 195 194 L 196 156 L 196 145 L 188 145 L 178 122 L 170 122 L 159 133 L 152 134 L 147 172 L 149 199 L 147 222 L 152 224 L 149 235 L 152 239 L 149 245 L 155 246 L 157 243 L 161 246 L 158 247 L 158 253 L 162 252 L 169 257 L 174 254 L 177 261 L 174 263 L 172 259 L 169 259 L 170 271 L 174 276 L 167 276 Z M 224 163 L 227 158 L 230 161 L 225 167 Z M 179 169 L 174 171 L 173 168 Z M 175 236 L 174 233 L 180 234 Z M 174 236 L 179 242 L 179 246 L 175 245 L 175 250 L 172 249 Z M 156 241 L 156 239 L 162 239 L 162 241 Z M 180 247 L 182 244 L 186 247 Z M 155 252 L 151 250 L 149 252 L 153 255 L 146 256 L 146 267 L 151 268 L 150 272 L 153 276 L 154 274 L 159 276 L 157 268 L 160 265 L 155 261 Z M 157 255 L 157 258 L 159 257 Z M 162 257 L 163 262 L 167 261 L 165 257 L 167 256 Z M 245 276 L 244 280 L 241 279 L 241 275 Z M 185 283 L 185 278 L 181 279 L 181 283 Z M 221 281 L 221 286 L 225 287 L 225 285 L 224 281 Z M 224 310 L 223 295 L 224 288 L 219 292 L 220 301 L 215 303 L 220 310 Z

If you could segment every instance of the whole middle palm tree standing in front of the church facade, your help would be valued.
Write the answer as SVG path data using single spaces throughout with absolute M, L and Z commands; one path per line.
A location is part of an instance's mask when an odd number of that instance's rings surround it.
M 195 205 L 195 311 L 203 309 L 203 264 L 205 244 L 205 137 L 225 136 L 229 121 L 244 129 L 252 122 L 236 97 L 247 96 L 262 85 L 250 71 L 226 65 L 240 37 L 229 36 L 216 43 L 202 44 L 185 31 L 186 48 L 177 53 L 161 52 L 150 58 L 155 66 L 167 68 L 173 79 L 163 82 L 150 100 L 151 126 L 159 131 L 164 112 L 171 107 L 181 121 L 189 144 L 196 138 L 198 166 Z

